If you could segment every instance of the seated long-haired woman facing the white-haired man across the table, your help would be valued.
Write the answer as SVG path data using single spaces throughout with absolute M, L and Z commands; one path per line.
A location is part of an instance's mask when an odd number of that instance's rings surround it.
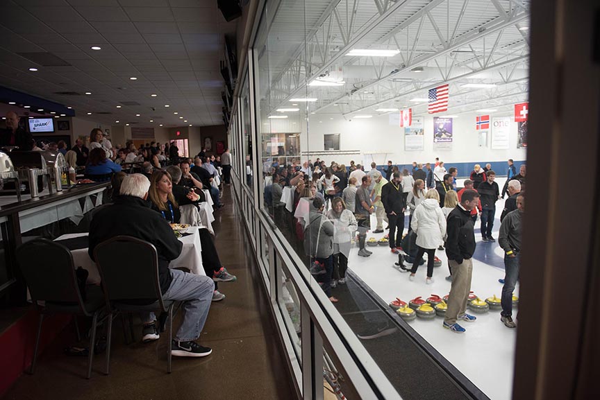
M 179 174 L 176 182 L 181 179 L 181 171 Z M 156 171 L 152 174 L 148 198 L 151 202 L 151 208 L 158 211 L 169 223 L 180 222 L 180 205 L 194 204 L 200 201 L 200 195 L 193 190 L 183 186 L 173 186 L 172 177 L 167 171 Z M 213 238 L 210 236 L 208 229 L 200 228 L 198 233 L 202 245 L 202 266 L 206 275 L 213 277 L 213 281 L 215 281 L 213 302 L 218 302 L 224 299 L 225 295 L 217 289 L 217 282 L 230 282 L 237 280 L 237 278 L 227 272 L 225 267 L 221 265 L 219 254 L 217 254 L 215 243 L 213 243 Z

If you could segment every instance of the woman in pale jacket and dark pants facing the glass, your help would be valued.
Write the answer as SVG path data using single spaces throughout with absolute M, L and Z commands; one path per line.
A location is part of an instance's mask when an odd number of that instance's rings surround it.
M 346 209 L 344 200 L 336 197 L 331 200 L 331 210 L 327 218 L 333 222 L 333 276 L 331 287 L 335 288 L 346 283 L 348 255 L 350 254 L 351 239 L 358 229 L 358 223 L 352 211 Z

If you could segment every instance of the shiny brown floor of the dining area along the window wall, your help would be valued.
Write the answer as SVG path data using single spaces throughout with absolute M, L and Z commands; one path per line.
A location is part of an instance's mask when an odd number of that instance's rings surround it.
M 240 211 L 225 189 L 226 207 L 215 213 L 216 245 L 226 268 L 238 281 L 220 284 L 226 295 L 213 303 L 200 342 L 213 348 L 206 358 L 174 357 L 166 373 L 166 337 L 158 342 L 125 345 L 115 324 L 110 376 L 103 374 L 104 354 L 94 359 L 92 379 L 84 379 L 85 358 L 64 356 L 74 340 L 67 329 L 42 355 L 35 375 L 22 376 L 5 399 L 293 399 L 291 379 L 276 345 L 268 304 L 258 271 L 248 255 L 249 243 Z M 176 321 L 176 325 L 178 321 Z

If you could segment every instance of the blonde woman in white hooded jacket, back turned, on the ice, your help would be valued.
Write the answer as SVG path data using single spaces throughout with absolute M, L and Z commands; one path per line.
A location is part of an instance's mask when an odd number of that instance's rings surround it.
M 415 273 L 423 254 L 427 253 L 427 279 L 426 284 L 433 283 L 433 260 L 435 249 L 444 243 L 446 234 L 446 218 L 440 209 L 440 194 L 435 189 L 429 189 L 425 194 L 425 200 L 417 207 L 412 215 L 412 230 L 417 234 L 417 256 L 412 264 L 408 279 L 415 280 Z

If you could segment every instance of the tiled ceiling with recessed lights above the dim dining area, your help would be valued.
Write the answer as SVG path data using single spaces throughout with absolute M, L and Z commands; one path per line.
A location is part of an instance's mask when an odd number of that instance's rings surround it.
M 216 0 L 1 0 L 0 15 L 1 86 L 101 123 L 222 124 L 219 60 L 236 22 Z M 33 53 L 65 63 L 36 64 Z

